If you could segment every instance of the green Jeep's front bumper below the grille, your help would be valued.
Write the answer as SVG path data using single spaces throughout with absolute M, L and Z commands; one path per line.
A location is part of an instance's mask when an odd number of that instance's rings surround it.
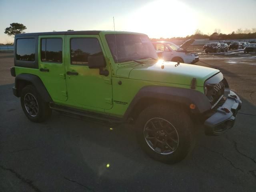
M 235 92 L 230 91 L 224 104 L 216 109 L 204 122 L 207 135 L 220 135 L 234 126 L 236 114 L 242 107 L 242 101 Z

